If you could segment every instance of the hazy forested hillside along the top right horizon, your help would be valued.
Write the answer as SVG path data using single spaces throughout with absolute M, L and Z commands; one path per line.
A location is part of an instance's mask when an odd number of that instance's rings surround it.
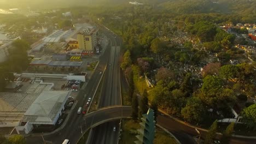
M 171 0 L 159 7 L 173 13 L 237 13 L 256 14 L 255 0 Z

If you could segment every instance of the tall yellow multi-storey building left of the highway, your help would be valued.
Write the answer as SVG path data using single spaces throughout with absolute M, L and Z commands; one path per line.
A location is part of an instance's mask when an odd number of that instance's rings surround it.
M 97 29 L 84 29 L 83 33 L 77 34 L 79 49 L 93 51 L 97 45 Z

